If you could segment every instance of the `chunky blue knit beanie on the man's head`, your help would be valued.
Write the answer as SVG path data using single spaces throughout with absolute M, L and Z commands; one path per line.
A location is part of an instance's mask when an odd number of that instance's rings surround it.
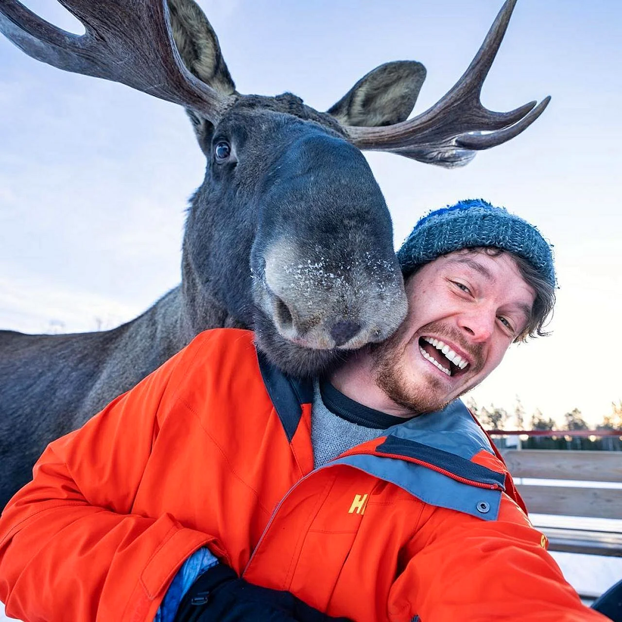
M 430 212 L 415 225 L 397 259 L 404 276 L 419 264 L 473 246 L 496 246 L 529 261 L 555 287 L 550 244 L 526 220 L 482 199 L 467 199 Z

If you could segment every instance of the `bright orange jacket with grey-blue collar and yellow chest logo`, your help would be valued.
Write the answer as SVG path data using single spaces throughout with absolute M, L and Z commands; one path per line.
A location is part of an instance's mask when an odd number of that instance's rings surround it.
M 604 620 L 459 402 L 313 470 L 310 397 L 251 333 L 199 335 L 45 450 L 0 519 L 7 614 L 152 620 L 207 545 L 249 581 L 356 622 Z

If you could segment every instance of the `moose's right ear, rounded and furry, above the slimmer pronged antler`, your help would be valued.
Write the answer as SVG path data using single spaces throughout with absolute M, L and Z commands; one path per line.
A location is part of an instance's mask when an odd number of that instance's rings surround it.
M 341 125 L 378 127 L 406 121 L 425 73 L 425 67 L 414 60 L 384 63 L 364 75 L 327 112 Z

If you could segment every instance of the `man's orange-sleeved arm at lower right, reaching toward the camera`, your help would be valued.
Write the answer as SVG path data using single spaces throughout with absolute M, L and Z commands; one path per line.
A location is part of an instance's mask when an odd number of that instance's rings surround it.
M 421 622 L 604 622 L 581 603 L 545 545 L 505 494 L 496 521 L 431 508 L 392 587 L 389 608 L 404 611 L 404 620 L 419 615 Z

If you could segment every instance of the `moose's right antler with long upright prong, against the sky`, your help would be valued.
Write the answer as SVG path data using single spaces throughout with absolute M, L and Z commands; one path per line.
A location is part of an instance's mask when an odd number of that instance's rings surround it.
M 528 128 L 542 114 L 550 97 L 537 106 L 532 101 L 507 113 L 490 111 L 480 101 L 481 86 L 515 4 L 516 0 L 506 0 L 466 72 L 432 108 L 391 126 L 346 126 L 353 144 L 360 149 L 389 151 L 428 164 L 455 167 L 470 162 L 475 151 L 500 145 Z

